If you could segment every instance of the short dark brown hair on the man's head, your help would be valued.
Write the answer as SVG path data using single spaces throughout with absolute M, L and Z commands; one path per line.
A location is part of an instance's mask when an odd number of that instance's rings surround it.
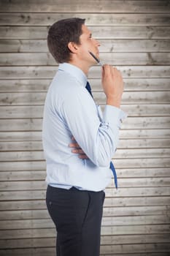
M 68 62 L 71 51 L 68 48 L 69 42 L 80 44 L 82 24 L 85 19 L 68 18 L 58 20 L 49 29 L 47 45 L 50 53 L 58 63 Z

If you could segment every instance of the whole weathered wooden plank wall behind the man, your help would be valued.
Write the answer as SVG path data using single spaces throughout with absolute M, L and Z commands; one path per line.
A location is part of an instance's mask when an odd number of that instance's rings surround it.
M 0 255 L 55 255 L 45 206 L 42 113 L 57 66 L 49 26 L 86 18 L 101 60 L 123 73 L 128 113 L 106 189 L 101 255 L 170 253 L 170 1 L 0 0 Z M 102 106 L 101 68 L 89 80 Z M 88 255 L 87 255 L 88 256 Z

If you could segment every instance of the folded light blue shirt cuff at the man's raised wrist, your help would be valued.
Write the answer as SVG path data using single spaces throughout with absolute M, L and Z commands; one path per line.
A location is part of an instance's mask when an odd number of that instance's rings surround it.
M 106 105 L 104 108 L 104 116 L 103 121 L 106 124 L 117 125 L 117 127 L 121 127 L 121 123 L 128 115 L 123 112 L 120 108 L 116 108 L 111 105 Z

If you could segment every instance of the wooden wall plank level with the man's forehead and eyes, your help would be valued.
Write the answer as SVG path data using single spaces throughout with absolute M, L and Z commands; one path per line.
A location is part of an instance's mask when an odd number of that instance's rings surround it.
M 100 39 L 169 39 L 170 26 L 88 26 Z M 0 26 L 0 39 L 46 39 L 49 26 Z

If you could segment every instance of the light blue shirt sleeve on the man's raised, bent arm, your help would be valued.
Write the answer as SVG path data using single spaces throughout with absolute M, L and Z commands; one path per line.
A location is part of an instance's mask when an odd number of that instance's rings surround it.
M 99 118 L 93 98 L 81 86 L 63 98 L 61 109 L 67 128 L 88 158 L 99 167 L 109 166 L 125 113 L 106 105 L 103 118 Z

